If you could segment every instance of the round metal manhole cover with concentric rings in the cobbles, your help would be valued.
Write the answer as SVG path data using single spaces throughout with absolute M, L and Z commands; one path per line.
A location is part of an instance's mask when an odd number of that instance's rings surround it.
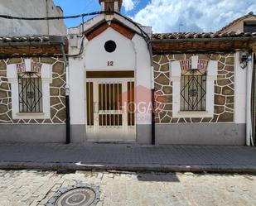
M 93 189 L 71 189 L 56 200 L 56 206 L 87 206 L 93 204 L 95 199 L 96 193 Z

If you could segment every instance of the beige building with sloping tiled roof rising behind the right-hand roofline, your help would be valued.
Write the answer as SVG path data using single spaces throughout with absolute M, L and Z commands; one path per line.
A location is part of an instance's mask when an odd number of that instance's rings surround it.
M 229 25 L 223 27 L 219 32 L 256 32 L 256 15 L 254 12 L 249 12 L 249 14 L 244 17 L 239 17 Z

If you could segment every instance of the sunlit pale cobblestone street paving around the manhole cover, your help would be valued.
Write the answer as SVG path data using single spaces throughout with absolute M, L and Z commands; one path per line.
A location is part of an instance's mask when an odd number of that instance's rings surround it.
M 0 170 L 0 205 L 45 205 L 60 188 L 99 186 L 97 205 L 256 205 L 255 175 Z

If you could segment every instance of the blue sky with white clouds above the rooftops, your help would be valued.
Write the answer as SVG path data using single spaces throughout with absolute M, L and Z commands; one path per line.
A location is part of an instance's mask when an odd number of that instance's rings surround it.
M 64 15 L 100 10 L 99 0 L 54 0 Z M 256 14 L 255 0 L 123 0 L 121 12 L 152 31 L 218 31 L 249 12 Z M 65 21 L 78 26 L 81 19 Z

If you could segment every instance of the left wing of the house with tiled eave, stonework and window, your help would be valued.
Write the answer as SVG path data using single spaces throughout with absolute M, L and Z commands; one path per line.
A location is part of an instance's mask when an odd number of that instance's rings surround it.
M 67 38 L 0 37 L 0 45 L 0 140 L 65 141 Z

